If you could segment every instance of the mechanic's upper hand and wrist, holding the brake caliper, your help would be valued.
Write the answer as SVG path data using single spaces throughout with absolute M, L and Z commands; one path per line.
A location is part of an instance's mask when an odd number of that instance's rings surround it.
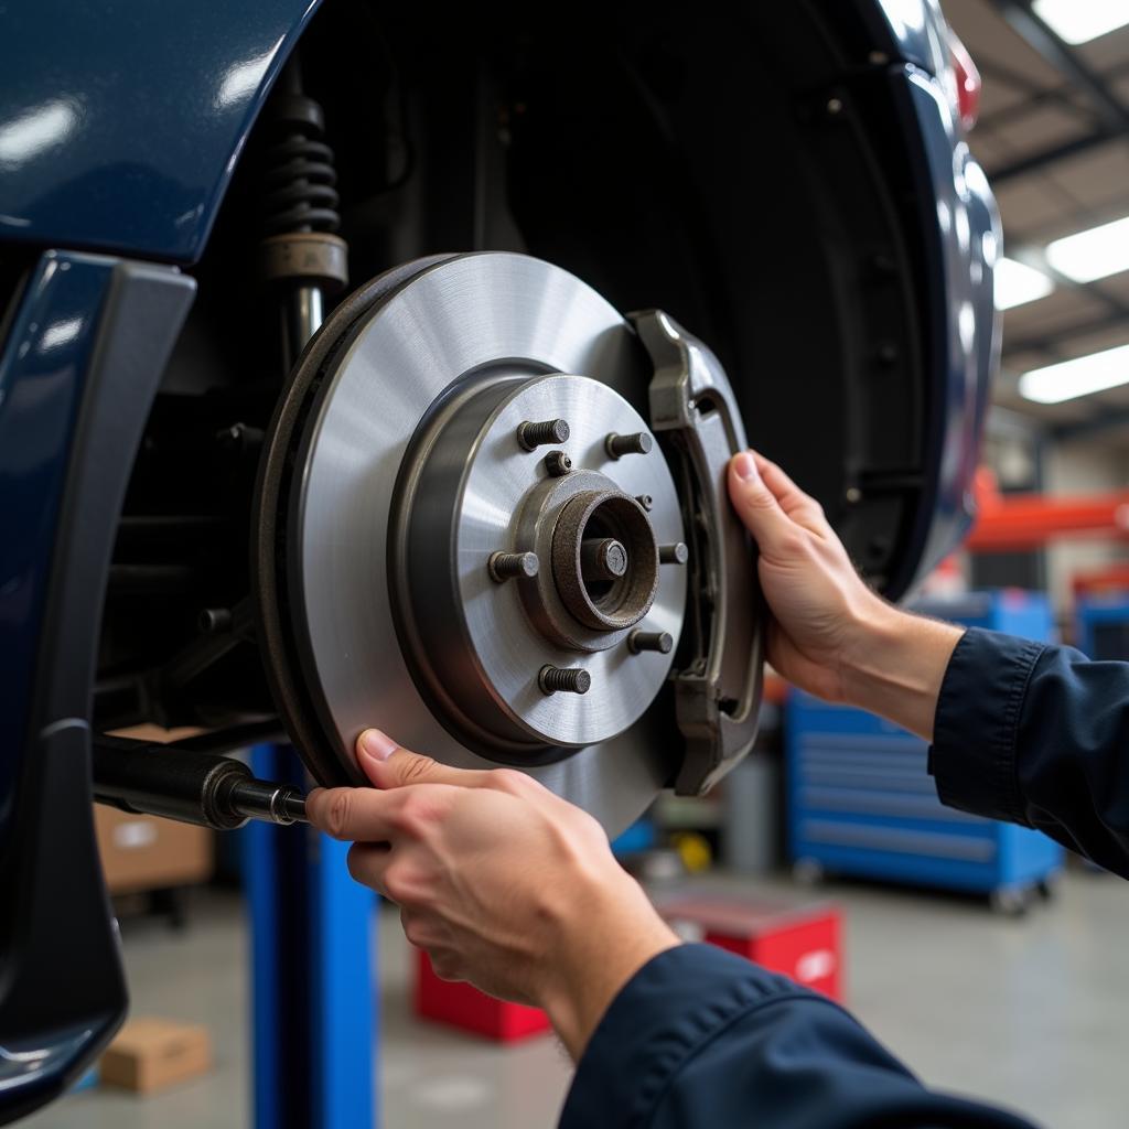
M 760 548 L 772 613 L 769 662 L 820 698 L 882 714 L 931 739 L 961 629 L 909 615 L 873 593 L 820 504 L 763 455 L 732 460 L 729 497 Z

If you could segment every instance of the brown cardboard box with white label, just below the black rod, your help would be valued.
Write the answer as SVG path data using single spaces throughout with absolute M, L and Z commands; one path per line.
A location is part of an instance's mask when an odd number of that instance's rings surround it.
M 211 877 L 213 837 L 207 828 L 95 804 L 94 830 L 112 894 L 186 886 Z

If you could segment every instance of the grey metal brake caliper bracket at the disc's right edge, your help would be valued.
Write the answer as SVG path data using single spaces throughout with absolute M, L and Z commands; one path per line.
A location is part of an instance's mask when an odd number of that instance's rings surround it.
M 760 715 L 764 614 L 756 548 L 726 487 L 729 458 L 747 444 L 736 397 L 714 353 L 662 310 L 629 320 L 655 369 L 650 426 L 675 456 L 693 544 L 680 665 L 671 679 L 686 742 L 674 787 L 694 796 L 744 758 Z

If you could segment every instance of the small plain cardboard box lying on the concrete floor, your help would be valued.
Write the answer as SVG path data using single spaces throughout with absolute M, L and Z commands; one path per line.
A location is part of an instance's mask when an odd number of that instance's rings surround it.
M 205 1074 L 211 1040 L 204 1027 L 170 1019 L 130 1019 L 98 1065 L 103 1085 L 152 1094 Z

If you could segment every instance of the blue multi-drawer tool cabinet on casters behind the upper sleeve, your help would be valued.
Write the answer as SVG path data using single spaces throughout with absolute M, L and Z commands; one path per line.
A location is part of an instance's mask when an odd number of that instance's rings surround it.
M 1047 598 L 975 593 L 917 611 L 1027 638 L 1052 636 Z M 1026 828 L 944 807 L 927 744 L 863 710 L 793 691 L 786 725 L 789 849 L 797 869 L 991 894 L 1019 908 L 1047 889 L 1062 849 Z

